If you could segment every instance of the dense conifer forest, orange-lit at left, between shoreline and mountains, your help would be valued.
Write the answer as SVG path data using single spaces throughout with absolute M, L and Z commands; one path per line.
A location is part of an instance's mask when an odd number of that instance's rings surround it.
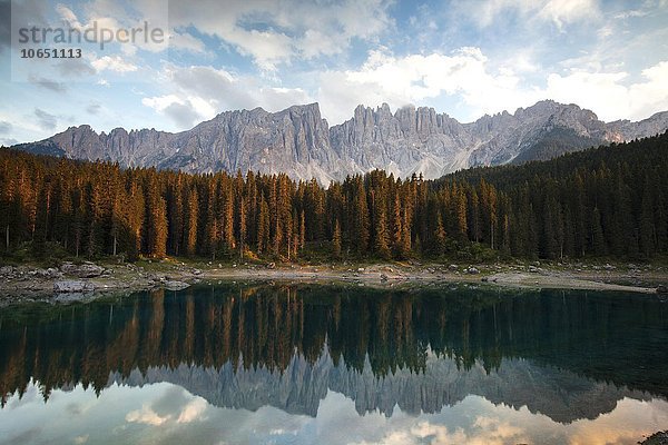
M 327 188 L 0 151 L 2 253 L 294 260 L 668 251 L 668 135 L 426 181 L 375 170 Z

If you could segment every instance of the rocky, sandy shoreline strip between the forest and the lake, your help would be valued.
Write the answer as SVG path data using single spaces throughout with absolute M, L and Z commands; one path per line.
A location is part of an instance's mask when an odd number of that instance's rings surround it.
M 418 261 L 392 264 L 298 265 L 185 264 L 177 260 L 111 264 L 63 261 L 58 267 L 0 267 L 0 304 L 21 300 L 69 301 L 109 293 L 163 287 L 179 290 L 203 280 L 296 280 L 358 283 L 377 287 L 438 283 L 487 283 L 521 288 L 667 291 L 668 269 L 661 266 L 584 265 L 444 265 Z

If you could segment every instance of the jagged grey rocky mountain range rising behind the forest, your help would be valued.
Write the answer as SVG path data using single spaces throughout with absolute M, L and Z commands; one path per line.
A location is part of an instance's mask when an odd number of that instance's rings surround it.
M 552 100 L 461 123 L 433 108 L 394 113 L 386 103 L 355 108 L 350 120 L 330 127 L 317 103 L 267 112 L 223 112 L 193 129 L 166 132 L 116 128 L 97 134 L 70 127 L 50 138 L 13 146 L 33 154 L 108 160 L 121 167 L 186 172 L 286 172 L 323 184 L 384 169 L 428 179 L 475 166 L 546 160 L 591 146 L 654 136 L 668 129 L 668 111 L 631 122 L 603 122 L 590 110 Z

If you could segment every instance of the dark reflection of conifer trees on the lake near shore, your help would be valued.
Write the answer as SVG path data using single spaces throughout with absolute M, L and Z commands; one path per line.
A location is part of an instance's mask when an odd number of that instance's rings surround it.
M 110 373 L 176 368 L 285 370 L 295 354 L 376 377 L 421 373 L 428 350 L 469 369 L 503 357 L 532 358 L 657 394 L 668 394 L 668 309 L 642 296 L 582 293 L 419 294 L 320 286 L 199 287 L 156 290 L 119 301 L 0 313 L 0 392 L 22 393 L 30 378 L 51 388 L 81 383 L 101 390 Z

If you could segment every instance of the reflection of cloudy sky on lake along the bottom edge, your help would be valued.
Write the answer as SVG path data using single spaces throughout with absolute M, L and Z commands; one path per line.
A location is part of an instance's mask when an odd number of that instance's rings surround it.
M 560 424 L 527 406 L 494 405 L 470 395 L 440 413 L 411 415 L 395 406 L 392 417 L 377 411 L 360 416 L 355 402 L 327 392 L 316 417 L 291 415 L 272 406 L 254 412 L 222 408 L 180 386 L 112 384 L 99 396 L 81 385 L 55 389 L 47 403 L 38 384 L 9 397 L 0 432 L 7 444 L 636 444 L 668 422 L 660 398 L 618 400 L 596 419 Z

